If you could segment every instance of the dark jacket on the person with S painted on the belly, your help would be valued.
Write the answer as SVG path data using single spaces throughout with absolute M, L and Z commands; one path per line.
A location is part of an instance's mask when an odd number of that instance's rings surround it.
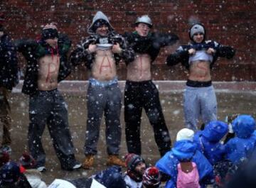
M 208 40 L 203 43 L 191 43 L 189 45 L 181 45 L 176 52 L 169 55 L 166 59 L 166 65 L 174 66 L 181 62 L 181 64 L 186 67 L 186 69 L 189 69 L 188 59 L 189 49 L 195 49 L 195 50 L 203 50 L 208 48 L 213 48 L 216 50 L 216 52 L 213 54 L 213 62 L 210 63 L 210 68 L 213 67 L 214 62 L 218 59 L 218 57 L 226 57 L 228 59 L 232 58 L 235 55 L 235 49 L 230 46 L 220 45 L 219 43 Z

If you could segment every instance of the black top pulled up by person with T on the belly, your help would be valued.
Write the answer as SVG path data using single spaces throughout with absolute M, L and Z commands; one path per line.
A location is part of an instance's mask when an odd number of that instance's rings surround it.
M 124 33 L 129 46 L 136 53 L 146 53 L 154 62 L 162 47 L 173 45 L 177 42 L 178 36 L 174 34 L 149 33 L 146 37 L 139 35 L 136 31 L 133 33 Z

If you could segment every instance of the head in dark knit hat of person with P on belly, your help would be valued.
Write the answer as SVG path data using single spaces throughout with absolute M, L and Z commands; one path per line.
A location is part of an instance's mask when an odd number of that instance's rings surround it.
M 46 41 L 50 46 L 55 47 L 58 43 L 58 28 L 56 23 L 48 23 L 43 27 L 42 40 Z

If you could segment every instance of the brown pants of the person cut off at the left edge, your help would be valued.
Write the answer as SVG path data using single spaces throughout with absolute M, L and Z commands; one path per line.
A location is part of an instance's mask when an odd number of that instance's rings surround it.
M 3 139 L 1 145 L 11 144 L 11 109 L 7 96 L 9 91 L 4 87 L 0 87 L 0 120 L 3 125 Z

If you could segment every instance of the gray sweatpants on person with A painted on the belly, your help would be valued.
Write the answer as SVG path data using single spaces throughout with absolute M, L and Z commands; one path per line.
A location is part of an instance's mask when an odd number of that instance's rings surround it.
M 97 82 L 97 81 L 96 81 Z M 97 84 L 102 84 L 97 82 Z M 89 84 L 87 89 L 87 129 L 85 133 L 85 155 L 97 153 L 97 141 L 100 134 L 100 123 L 104 112 L 106 122 L 106 143 L 109 155 L 119 154 L 121 142 L 122 93 L 117 82 L 112 84 Z

